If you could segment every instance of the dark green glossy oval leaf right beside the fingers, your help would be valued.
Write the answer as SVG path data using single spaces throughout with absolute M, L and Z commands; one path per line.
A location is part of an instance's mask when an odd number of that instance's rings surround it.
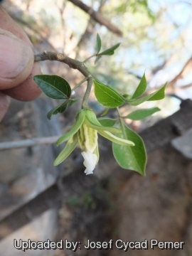
M 63 100 L 70 98 L 70 85 L 58 75 L 35 75 L 33 76 L 33 80 L 52 99 Z

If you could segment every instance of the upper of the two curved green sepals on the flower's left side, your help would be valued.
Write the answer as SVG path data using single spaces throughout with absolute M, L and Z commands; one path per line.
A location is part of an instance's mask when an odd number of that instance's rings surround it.
M 70 128 L 70 131 L 67 132 L 66 134 L 64 134 L 63 136 L 61 136 L 58 141 L 56 142 L 56 145 L 60 145 L 61 143 L 65 142 L 66 140 L 70 139 L 70 137 L 72 137 L 76 132 L 78 132 L 78 129 L 80 129 L 80 127 L 82 126 L 82 123 L 85 120 L 85 110 L 81 110 L 78 113 L 77 116 L 77 121 L 75 122 L 75 124 L 73 124 L 73 126 Z

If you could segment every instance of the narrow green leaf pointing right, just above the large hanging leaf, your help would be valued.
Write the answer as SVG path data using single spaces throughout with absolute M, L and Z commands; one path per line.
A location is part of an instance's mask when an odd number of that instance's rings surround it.
M 160 111 L 159 107 L 151 107 L 150 109 L 143 109 L 143 110 L 135 110 L 134 112 L 128 114 L 126 117 L 132 120 L 142 120 L 146 117 L 151 116 L 155 112 Z

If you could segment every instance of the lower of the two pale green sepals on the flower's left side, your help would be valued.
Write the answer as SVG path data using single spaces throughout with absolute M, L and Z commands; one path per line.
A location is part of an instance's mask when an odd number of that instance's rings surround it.
M 77 144 L 78 144 L 78 134 L 75 134 L 71 139 L 69 139 L 64 149 L 60 152 L 58 157 L 55 159 L 53 166 L 57 166 L 58 164 L 63 162 L 70 155 L 70 153 L 75 149 Z

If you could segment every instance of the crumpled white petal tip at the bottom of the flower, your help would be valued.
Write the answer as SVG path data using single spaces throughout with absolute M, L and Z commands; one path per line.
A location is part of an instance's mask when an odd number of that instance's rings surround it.
M 81 154 L 85 159 L 85 161 L 83 162 L 86 167 L 85 174 L 92 174 L 92 171 L 95 169 L 95 166 L 97 164 L 97 155 L 93 154 L 91 151 L 83 151 Z

